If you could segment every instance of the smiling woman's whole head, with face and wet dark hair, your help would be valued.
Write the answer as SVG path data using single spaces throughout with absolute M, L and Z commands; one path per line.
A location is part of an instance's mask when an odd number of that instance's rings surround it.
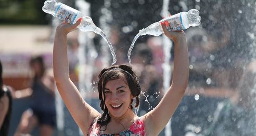
M 139 105 L 139 80 L 131 67 L 127 65 L 103 69 L 101 74 L 99 74 L 98 91 L 101 109 L 104 112 L 98 120 L 98 123 L 101 125 L 108 124 L 111 117 L 121 119 L 126 114 L 134 114 L 132 110 L 128 110 L 129 108 L 132 109 L 131 103 L 133 101 L 136 101 L 134 108 Z M 121 116 L 117 112 L 119 109 L 123 111 Z M 109 111 L 112 112 L 108 113 Z M 109 115 L 111 113 L 117 116 Z

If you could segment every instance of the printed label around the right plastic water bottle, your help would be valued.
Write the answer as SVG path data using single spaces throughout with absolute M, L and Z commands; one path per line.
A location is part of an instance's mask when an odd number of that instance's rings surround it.
M 185 30 L 181 19 L 181 13 L 175 14 L 171 17 L 167 17 L 163 23 L 169 31 Z

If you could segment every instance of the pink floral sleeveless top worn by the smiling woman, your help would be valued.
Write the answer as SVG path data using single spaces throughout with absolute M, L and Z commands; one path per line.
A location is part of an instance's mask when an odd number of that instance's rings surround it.
M 105 134 L 100 131 L 100 125 L 97 123 L 97 119 L 98 118 L 94 119 L 93 123 L 90 125 L 87 136 L 146 136 L 142 118 L 136 119 L 128 130 L 112 134 Z

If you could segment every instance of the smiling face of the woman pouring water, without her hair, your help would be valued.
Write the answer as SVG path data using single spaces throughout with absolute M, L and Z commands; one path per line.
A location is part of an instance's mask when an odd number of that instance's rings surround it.
M 111 116 L 120 118 L 125 114 L 132 112 L 131 91 L 124 79 L 110 80 L 106 83 L 105 88 L 105 105 Z

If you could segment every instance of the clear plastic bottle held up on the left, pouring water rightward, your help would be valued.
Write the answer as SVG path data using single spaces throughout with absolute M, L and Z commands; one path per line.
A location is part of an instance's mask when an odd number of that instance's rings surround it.
M 93 23 L 91 17 L 85 16 L 75 8 L 71 8 L 63 3 L 57 3 L 55 0 L 46 0 L 42 10 L 70 24 L 76 23 L 76 21 L 82 17 L 82 22 L 78 26 L 81 31 L 93 31 L 96 34 L 100 33 L 100 29 Z

